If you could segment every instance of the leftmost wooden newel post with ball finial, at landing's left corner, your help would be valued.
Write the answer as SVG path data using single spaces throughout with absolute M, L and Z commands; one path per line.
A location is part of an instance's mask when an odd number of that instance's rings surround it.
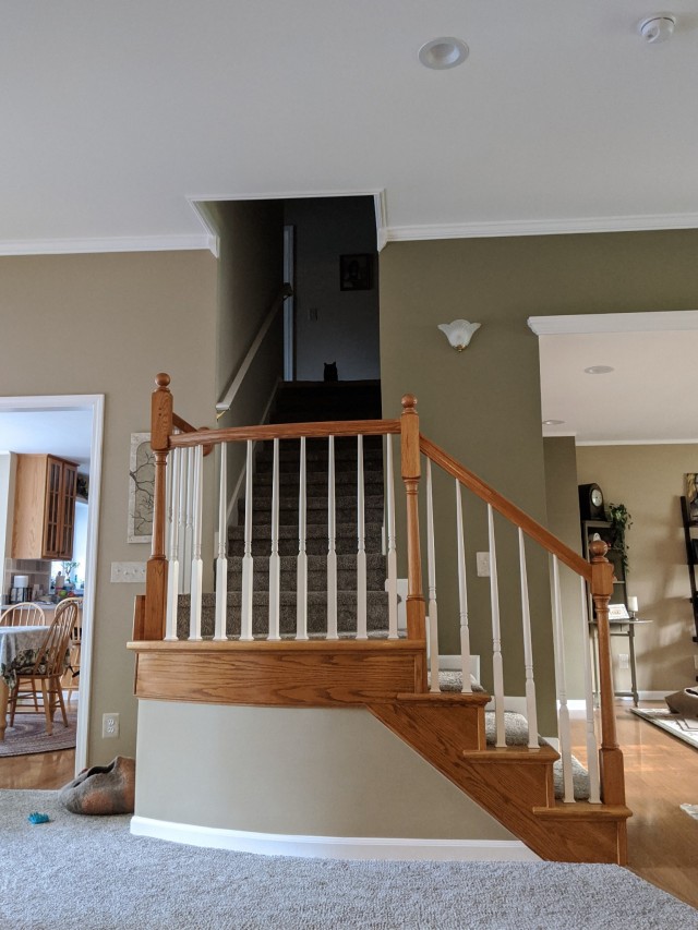
M 165 519 L 167 511 L 166 475 L 169 437 L 172 433 L 172 395 L 170 376 L 160 373 L 151 400 L 151 447 L 155 454 L 155 491 L 153 495 L 153 547 L 145 572 L 145 618 L 143 637 L 160 640 L 165 636 L 167 608 L 167 558 L 165 556 Z

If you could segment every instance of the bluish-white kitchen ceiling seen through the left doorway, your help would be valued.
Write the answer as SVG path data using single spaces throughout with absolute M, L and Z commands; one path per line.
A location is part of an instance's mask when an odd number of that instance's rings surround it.
M 92 411 L 0 410 L 0 451 L 48 454 L 89 473 Z

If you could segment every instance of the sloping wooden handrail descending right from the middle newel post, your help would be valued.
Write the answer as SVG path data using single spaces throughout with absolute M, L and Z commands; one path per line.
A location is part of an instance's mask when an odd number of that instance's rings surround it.
M 556 555 L 568 568 L 571 568 L 577 575 L 591 582 L 591 566 L 589 563 L 574 549 L 569 548 L 569 546 L 565 545 L 565 543 L 561 542 L 550 530 L 546 530 L 545 527 L 541 526 L 532 517 L 529 517 L 525 510 L 521 510 L 516 504 L 507 500 L 506 497 L 478 478 L 477 474 L 473 474 L 473 472 L 456 461 L 453 456 L 449 456 L 448 452 L 421 434 L 419 445 L 421 451 L 435 464 L 441 466 L 444 471 L 448 472 L 453 478 L 458 479 L 461 484 L 472 491 L 481 500 L 491 504 L 494 510 L 512 523 L 520 527 L 527 536 L 539 543 L 551 555 Z

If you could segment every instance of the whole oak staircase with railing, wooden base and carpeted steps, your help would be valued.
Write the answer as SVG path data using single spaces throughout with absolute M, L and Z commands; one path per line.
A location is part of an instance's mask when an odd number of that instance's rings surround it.
M 593 787 L 590 801 L 575 801 L 576 786 L 571 792 L 571 763 L 569 737 L 561 729 L 561 753 L 565 801 L 558 800 L 555 788 L 554 768 L 561 758 L 546 744 L 538 745 L 535 726 L 533 739 L 512 744 L 509 730 L 505 733 L 504 695 L 517 693 L 504 690 L 502 675 L 497 680 L 496 660 L 493 656 L 493 691 L 497 716 L 496 733 L 493 721 L 485 713 L 490 695 L 482 692 L 430 691 L 426 677 L 426 651 L 424 632 L 424 597 L 421 579 L 420 530 L 418 520 L 418 485 L 422 457 L 426 468 L 426 509 L 431 514 L 431 472 L 433 463 L 456 479 L 457 500 L 461 488 L 486 502 L 492 523 L 493 508 L 518 527 L 519 535 L 527 533 L 530 540 L 553 555 L 557 579 L 558 563 L 565 564 L 579 578 L 590 584 L 594 595 L 597 614 L 605 611 L 613 582 L 612 566 L 604 557 L 603 546 L 597 545 L 592 563 L 582 560 L 550 532 L 531 520 L 524 511 L 481 482 L 448 454 L 425 438 L 419 428 L 416 400 L 406 396 L 400 420 L 377 420 L 380 396 L 376 385 L 351 385 L 349 383 L 324 384 L 301 383 L 284 385 L 278 403 L 264 426 L 239 427 L 213 432 L 196 431 L 177 418 L 173 433 L 173 413 L 166 375 L 158 376 L 158 390 L 163 413 L 158 414 L 154 402 L 153 435 L 154 449 L 160 451 L 160 469 L 164 470 L 167 454 L 188 451 L 188 446 L 197 450 L 198 462 L 203 461 L 204 447 L 220 446 L 220 461 L 225 463 L 224 449 L 230 443 L 245 443 L 252 495 L 251 502 L 238 502 L 237 526 L 229 529 L 227 553 L 227 578 L 219 563 L 220 578 L 227 581 L 227 600 L 216 603 L 216 594 L 202 595 L 201 588 L 192 595 L 171 596 L 169 604 L 177 608 L 177 635 L 170 635 L 174 617 L 167 613 L 168 570 L 161 552 L 165 540 L 166 507 L 160 478 L 156 494 L 156 520 L 160 527 L 159 541 L 154 544 L 154 554 L 148 563 L 146 596 L 136 601 L 134 642 L 131 648 L 137 653 L 136 695 L 142 700 L 174 700 L 209 704 L 244 704 L 268 708 L 339 708 L 363 706 L 386 727 L 421 754 L 445 777 L 456 784 L 482 808 L 507 826 L 540 856 L 552 860 L 567 861 L 627 861 L 625 821 L 630 811 L 625 807 L 623 759 L 615 741 L 615 727 L 610 679 L 607 629 L 601 636 L 604 651 L 599 654 L 601 692 L 602 741 L 593 733 L 592 702 L 590 688 L 587 691 L 587 758 L 590 775 L 592 763 L 600 761 L 601 782 L 597 769 L 591 780 Z M 168 409 L 169 407 L 169 409 Z M 340 414 L 350 418 L 341 421 Z M 361 422 L 359 422 L 361 421 Z M 160 424 L 165 423 L 165 427 Z M 286 427 L 285 424 L 294 423 Z M 308 424 L 317 423 L 315 427 Z M 305 425 L 303 425 L 305 424 Z M 157 434 L 157 428 L 160 433 Z M 407 565 L 409 594 L 406 602 L 407 635 L 388 639 L 388 595 L 385 589 L 389 576 L 392 591 L 394 580 L 395 549 L 388 546 L 388 557 L 383 555 L 384 538 L 384 439 L 390 443 L 399 433 L 400 470 L 405 485 L 407 506 Z M 299 439 L 305 436 L 305 439 Z M 322 438 L 313 438 L 322 437 Z M 335 530 L 328 528 L 328 449 L 334 437 L 335 461 Z M 357 437 L 360 437 L 358 439 Z M 215 442 L 212 444 L 212 439 Z M 254 464 L 253 462 L 253 444 Z M 301 444 L 305 446 L 305 532 L 299 527 L 299 488 L 302 457 Z M 357 502 L 358 449 L 363 446 L 362 503 Z M 277 491 L 274 491 L 275 449 L 278 447 Z M 180 458 L 176 461 L 182 461 Z M 156 461 L 157 468 L 157 461 Z M 201 494 L 201 468 L 198 491 Z M 221 468 L 222 475 L 226 469 Z M 179 473 L 177 469 L 174 473 Z M 390 474 L 392 469 L 386 469 Z M 161 472 L 160 472 L 161 474 Z M 157 472 L 156 472 L 157 476 Z M 196 481 L 196 478 L 194 476 Z M 386 479 L 389 492 L 389 479 Z M 173 499 L 181 497 L 172 479 Z M 387 497 L 392 500 L 393 495 Z M 225 526 L 228 495 L 225 481 L 219 491 L 220 523 Z M 278 504 L 278 533 L 273 529 L 275 502 Z M 253 519 L 249 520 L 246 505 L 252 505 Z M 172 512 L 176 511 L 172 507 Z M 302 511 L 301 511 L 302 512 Z M 361 548 L 358 515 L 365 518 Z M 457 515 L 458 516 L 458 515 Z M 172 527 L 179 521 L 172 518 Z M 248 542 L 244 524 L 248 524 Z M 303 521 L 300 521 L 301 524 Z M 433 557 L 430 552 L 428 524 L 428 564 Z M 196 520 L 194 520 L 196 524 Z M 200 541 L 201 548 L 201 519 Z M 459 531 L 462 532 L 461 529 Z M 491 530 L 493 532 L 493 530 Z M 389 534 L 394 538 L 394 531 Z M 300 545 L 299 545 L 300 538 Z M 337 636 L 328 635 L 327 583 L 328 539 L 336 541 L 337 553 Z M 155 539 L 155 534 L 154 534 Z M 277 540 L 277 552 L 273 553 L 273 540 Z M 494 536 L 492 536 L 491 545 Z M 458 544 L 461 545 L 459 536 Z M 250 546 L 245 556 L 245 545 Z M 594 544 L 595 545 L 595 544 Z M 366 561 L 366 632 L 358 631 L 359 604 L 361 603 L 357 577 L 365 552 Z M 252 641 L 241 637 L 243 558 L 249 567 L 252 556 Z M 224 556 L 221 555 L 222 559 Z M 176 559 L 173 559 L 176 561 Z M 272 631 L 269 604 L 274 589 L 275 567 L 278 561 L 279 628 Z M 387 565 L 386 565 L 387 563 Z M 524 581 L 525 552 L 520 553 L 522 578 L 522 603 L 526 588 Z M 201 565 L 201 559 L 200 559 Z M 300 571 L 299 571 L 300 566 Z M 305 568 L 306 566 L 306 568 Z M 389 570 L 388 570 L 389 568 Z M 273 569 L 273 570 L 270 570 Z M 201 569 L 200 569 L 201 570 Z M 510 570 L 510 569 L 509 569 Z M 192 567 L 192 577 L 194 570 Z M 177 577 L 177 572 L 172 573 Z M 306 596 L 297 596 L 299 579 L 306 578 Z M 465 570 L 460 577 L 465 589 Z M 272 582 L 272 583 L 270 583 Z M 172 589 L 177 591 L 177 588 Z M 219 588 L 222 592 L 224 584 Z M 250 589 L 248 589 L 250 590 Z M 302 591 L 301 591 L 302 593 Z M 527 595 L 526 595 L 527 597 Z M 430 628 L 436 621 L 435 593 L 430 582 Z M 190 607 L 193 601 L 202 605 L 201 636 L 190 639 Z M 395 601 L 392 601 L 395 604 Z M 299 627 L 301 607 L 306 605 L 306 627 Z M 221 632 L 215 633 L 215 614 Z M 225 608 L 225 609 L 224 609 Z M 166 617 L 167 613 L 167 617 Z M 194 611 L 195 614 L 195 611 Z M 171 625 L 170 625 L 171 617 Z M 392 617 L 394 613 L 392 612 Z M 607 621 L 606 621 L 607 623 Z M 462 620 L 461 620 L 462 624 Z M 225 626 L 225 635 L 222 628 Z M 194 627 L 195 628 L 195 627 Z M 393 627 L 395 629 L 395 627 Z M 304 635 L 306 632 L 306 635 Z M 437 631 L 432 629 L 433 641 Z M 461 625 L 461 637 L 467 636 Z M 529 629 L 530 636 L 530 629 Z M 213 640 L 212 640 L 213 637 Z M 227 638 L 226 638 L 227 637 Z M 469 644 L 464 648 L 464 667 L 467 668 Z M 501 655 L 498 656 L 501 661 Z M 550 657 L 549 657 L 550 659 Z M 436 671 L 434 669 L 434 674 Z M 527 716 L 535 717 L 535 696 L 528 703 Z M 566 712 L 566 706 L 564 708 Z M 558 722 L 562 720 L 558 715 Z M 493 742 L 494 737 L 494 742 Z M 495 745 L 496 744 L 496 745 Z M 601 786 L 601 794 L 599 788 Z M 299 788 L 300 790 L 301 788 Z

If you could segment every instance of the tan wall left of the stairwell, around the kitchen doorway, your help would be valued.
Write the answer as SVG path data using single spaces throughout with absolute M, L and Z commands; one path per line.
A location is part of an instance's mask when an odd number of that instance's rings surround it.
M 160 371 L 171 375 L 178 413 L 215 425 L 216 262 L 207 252 L 0 258 L 0 395 L 105 395 L 88 753 L 91 763 L 132 756 L 134 660 L 125 643 L 144 585 L 110 581 L 111 563 L 149 555 L 127 543 L 130 437 L 149 428 Z M 101 715 L 112 711 L 121 735 L 103 740 Z

